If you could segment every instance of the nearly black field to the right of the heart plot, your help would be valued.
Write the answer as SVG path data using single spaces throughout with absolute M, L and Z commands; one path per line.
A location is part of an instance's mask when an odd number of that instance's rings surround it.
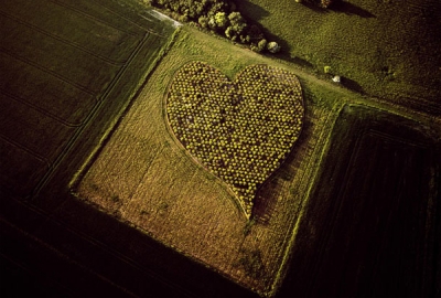
M 433 127 L 346 106 L 305 209 L 284 290 L 433 296 L 439 138 Z

